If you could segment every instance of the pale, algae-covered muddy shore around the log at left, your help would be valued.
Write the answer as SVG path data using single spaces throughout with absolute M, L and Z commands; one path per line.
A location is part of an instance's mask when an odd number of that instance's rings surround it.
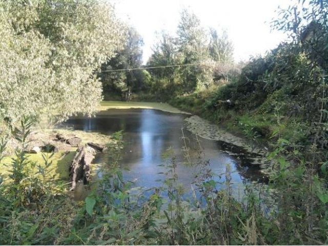
M 37 153 L 26 153 L 28 162 L 39 163 L 41 167 L 44 164 L 44 157 L 46 155 L 51 165 L 48 167 L 47 176 L 52 177 L 55 180 L 69 180 L 69 167 L 76 154 L 77 146 L 66 144 L 66 142 L 55 140 L 56 135 L 63 135 L 67 138 L 74 137 L 81 139 L 79 146 L 84 146 L 87 142 L 96 142 L 100 145 L 114 145 L 116 141 L 108 135 L 85 132 L 74 129 L 60 129 L 60 128 L 34 128 L 28 138 L 27 149 L 33 149 L 34 147 L 42 147 L 47 144 L 53 146 L 56 151 L 52 153 L 46 153 L 37 151 Z M 19 142 L 12 138 L 8 141 L 4 158 L 0 162 L 0 175 L 7 176 L 11 170 L 11 162 L 14 157 L 16 148 L 19 148 Z M 33 151 L 34 152 L 34 151 Z M 6 181 L 6 179 L 4 179 Z

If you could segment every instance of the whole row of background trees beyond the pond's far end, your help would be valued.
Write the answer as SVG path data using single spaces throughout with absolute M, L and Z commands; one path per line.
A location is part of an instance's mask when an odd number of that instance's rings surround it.
M 168 95 L 215 87 L 238 74 L 239 67 L 233 61 L 233 44 L 226 31 L 207 30 L 187 9 L 181 12 L 176 35 L 166 31 L 160 33 L 144 66 L 152 69 L 128 70 L 142 67 L 142 44 L 142 37 L 130 28 L 125 45 L 103 65 L 99 75 L 105 95 L 120 94 L 131 87 L 134 92 L 148 94 L 146 99 L 169 99 Z

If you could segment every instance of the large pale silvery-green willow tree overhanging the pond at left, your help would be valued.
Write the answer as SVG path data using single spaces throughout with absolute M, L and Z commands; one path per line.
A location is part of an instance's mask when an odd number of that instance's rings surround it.
M 2 1 L 0 121 L 91 115 L 101 100 L 95 71 L 115 55 L 122 30 L 105 1 Z

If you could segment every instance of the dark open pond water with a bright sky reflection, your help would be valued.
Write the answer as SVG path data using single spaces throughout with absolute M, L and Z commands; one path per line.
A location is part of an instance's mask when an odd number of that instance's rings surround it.
M 265 181 L 259 166 L 252 163 L 253 158 L 258 156 L 242 147 L 225 141 L 198 137 L 202 148 L 199 155 L 196 136 L 186 129 L 187 117 L 190 115 L 152 109 L 110 109 L 99 112 L 94 118 L 71 118 L 65 122 L 64 127 L 102 134 L 123 130 L 124 149 L 119 165 L 124 170 L 124 179 L 133 181 L 136 187 L 148 189 L 163 185 L 163 180 L 167 178 L 163 173 L 168 171 L 166 165 L 170 162 L 170 158 L 164 157 L 163 153 L 172 148 L 176 156 L 178 183 L 183 185 L 186 194 L 191 194 L 191 185 L 199 172 L 199 166 L 188 163 L 184 147 L 190 150 L 192 163 L 199 156 L 202 156 L 203 160 L 209 160 L 209 167 L 217 175 L 217 181 L 224 181 L 224 172 L 229 164 L 235 193 L 242 193 L 245 183 Z M 94 162 L 106 163 L 109 158 L 108 153 L 99 153 Z

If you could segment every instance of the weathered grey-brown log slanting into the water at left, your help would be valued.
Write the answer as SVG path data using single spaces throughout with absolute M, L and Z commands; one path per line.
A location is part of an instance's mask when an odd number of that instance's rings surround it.
M 78 148 L 73 162 L 70 167 L 71 188 L 73 191 L 78 180 L 83 180 L 87 184 L 90 180 L 91 162 L 94 158 L 95 151 L 91 147 Z

